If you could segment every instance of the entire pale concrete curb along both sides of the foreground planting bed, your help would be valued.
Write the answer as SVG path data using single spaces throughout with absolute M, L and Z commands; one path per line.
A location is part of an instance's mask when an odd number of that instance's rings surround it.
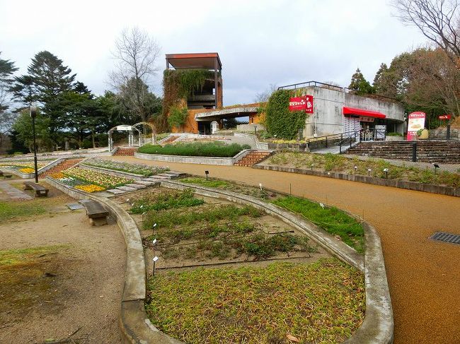
M 130 215 L 117 203 L 107 198 L 70 189 L 50 177 L 46 179 L 49 184 L 71 197 L 77 199 L 94 199 L 103 203 L 110 213 L 117 218 L 117 224 L 125 237 L 127 247 L 125 289 L 120 313 L 122 343 L 182 343 L 159 331 L 147 319 L 144 310 L 144 299 L 146 297 L 144 250 L 139 230 Z M 278 206 L 260 201 L 258 198 L 236 194 L 231 191 L 190 186 L 172 181 L 161 181 L 161 186 L 173 189 L 192 187 L 197 194 L 201 194 L 202 196 L 225 198 L 229 201 L 250 204 L 251 206 L 255 206 L 255 208 L 263 209 L 268 214 L 277 216 L 285 223 L 297 227 L 326 250 L 330 251 L 330 253 L 337 256 L 338 259 L 363 271 L 366 285 L 366 315 L 362 326 L 345 343 L 393 343 L 393 311 L 391 309 L 391 299 L 386 280 L 380 238 L 374 227 L 364 223 L 366 253 L 363 259 L 354 249 L 319 229 L 316 225 L 308 223 L 299 216 Z

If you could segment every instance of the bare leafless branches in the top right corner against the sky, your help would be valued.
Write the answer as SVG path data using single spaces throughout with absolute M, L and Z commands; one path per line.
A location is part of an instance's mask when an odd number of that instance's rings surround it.
M 456 0 L 393 0 L 392 5 L 403 23 L 415 25 L 425 37 L 443 49 L 454 64 L 458 64 L 460 18 Z

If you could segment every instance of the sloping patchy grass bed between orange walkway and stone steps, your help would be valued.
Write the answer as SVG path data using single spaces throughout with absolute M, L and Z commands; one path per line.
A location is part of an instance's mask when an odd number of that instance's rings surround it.
M 460 174 L 442 171 L 435 173 L 434 169 L 422 169 L 413 166 L 397 166 L 386 162 L 383 159 L 360 160 L 358 158 L 345 158 L 338 154 L 315 154 L 299 152 L 283 152 L 272 155 L 267 160 L 269 165 L 288 165 L 296 168 L 324 172 L 340 172 L 347 174 L 370 175 L 376 178 L 386 178 L 385 168 L 389 169 L 389 179 L 409 180 L 422 184 L 447 185 L 452 187 L 460 186 Z M 355 166 L 357 169 L 355 170 Z M 369 172 L 368 169 L 371 169 Z

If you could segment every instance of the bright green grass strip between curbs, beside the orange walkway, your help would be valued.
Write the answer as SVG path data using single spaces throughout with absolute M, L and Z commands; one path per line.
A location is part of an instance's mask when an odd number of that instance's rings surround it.
M 321 207 L 318 203 L 305 198 L 285 196 L 272 203 L 299 213 L 304 218 L 332 235 L 338 235 L 348 246 L 360 254 L 364 253 L 364 228 L 355 218 L 335 207 Z

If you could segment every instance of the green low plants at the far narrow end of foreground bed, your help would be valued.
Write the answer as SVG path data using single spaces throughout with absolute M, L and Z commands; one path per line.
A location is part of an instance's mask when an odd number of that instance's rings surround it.
M 164 191 L 137 199 L 130 208 L 132 214 L 142 214 L 148 210 L 162 210 L 170 208 L 184 208 L 200 206 L 205 203 L 200 198 L 193 196 L 192 189 L 183 191 Z

